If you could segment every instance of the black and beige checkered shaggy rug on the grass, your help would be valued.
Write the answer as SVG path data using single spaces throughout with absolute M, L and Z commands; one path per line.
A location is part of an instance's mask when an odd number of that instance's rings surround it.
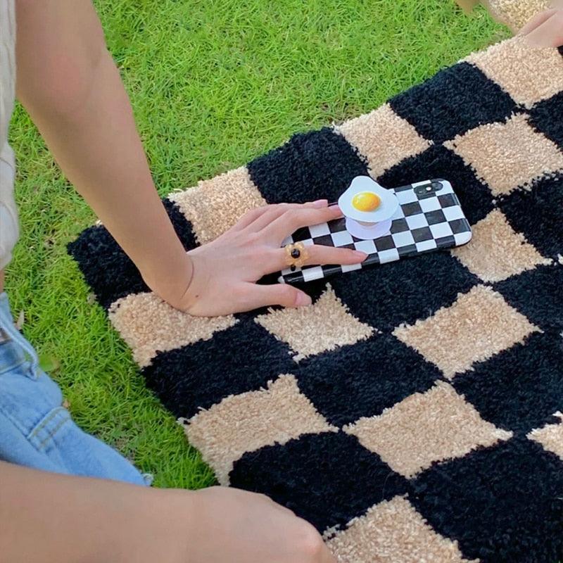
M 220 483 L 308 519 L 340 562 L 563 559 L 562 53 L 510 39 L 165 199 L 193 248 L 357 175 L 450 180 L 471 243 L 312 281 L 310 308 L 190 317 L 104 227 L 70 245 Z

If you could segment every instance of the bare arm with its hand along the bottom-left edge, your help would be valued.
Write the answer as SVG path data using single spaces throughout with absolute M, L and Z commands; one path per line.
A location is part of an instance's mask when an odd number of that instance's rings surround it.
M 151 489 L 0 461 L 0 562 L 336 563 L 263 495 Z

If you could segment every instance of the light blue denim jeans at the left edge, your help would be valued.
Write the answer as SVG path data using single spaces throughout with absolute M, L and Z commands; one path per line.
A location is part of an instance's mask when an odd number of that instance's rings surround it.
M 82 431 L 62 405 L 61 389 L 14 327 L 0 293 L 0 460 L 56 473 L 148 484 L 148 477 Z

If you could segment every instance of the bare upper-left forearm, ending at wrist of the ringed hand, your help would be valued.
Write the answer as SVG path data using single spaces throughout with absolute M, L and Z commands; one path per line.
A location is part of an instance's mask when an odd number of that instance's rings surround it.
M 66 177 L 146 281 L 187 285 L 191 262 L 156 192 L 93 8 L 64 4 L 18 3 L 18 96 Z M 76 18 L 66 22 L 65 9 L 84 10 L 80 32 L 72 29 Z M 52 26 L 60 29 L 53 33 Z

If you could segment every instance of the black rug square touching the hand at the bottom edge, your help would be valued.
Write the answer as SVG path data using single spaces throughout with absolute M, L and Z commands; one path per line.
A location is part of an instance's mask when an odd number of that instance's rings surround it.
M 343 432 L 309 434 L 246 453 L 234 463 L 232 486 L 264 493 L 321 533 L 345 526 L 369 507 L 407 491 L 407 481 Z

